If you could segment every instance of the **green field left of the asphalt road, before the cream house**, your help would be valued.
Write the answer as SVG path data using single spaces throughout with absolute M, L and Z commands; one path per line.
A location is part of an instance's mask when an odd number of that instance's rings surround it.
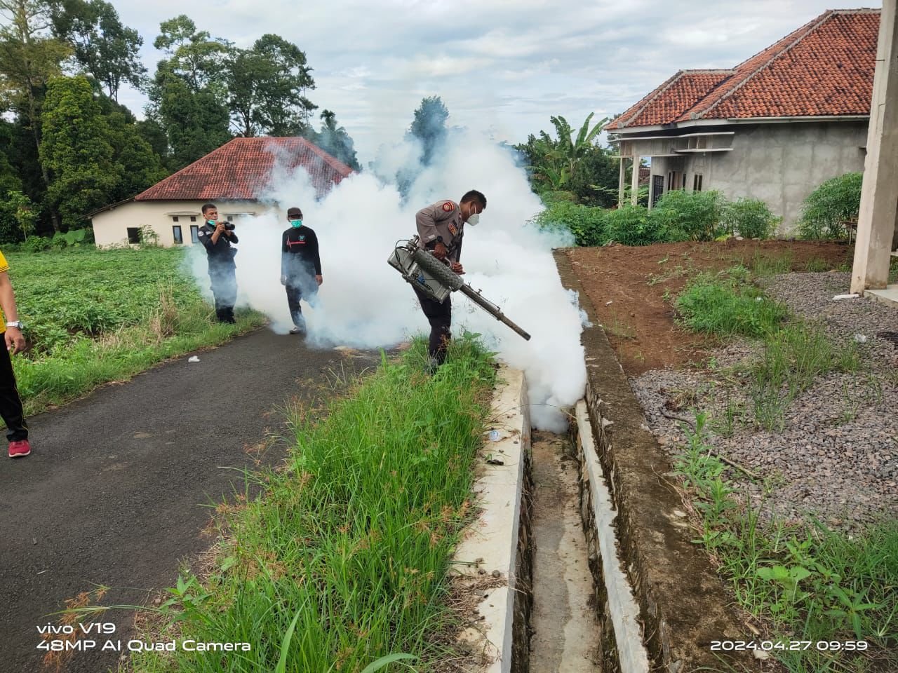
M 221 325 L 183 267 L 183 249 L 10 253 L 19 318 L 31 346 L 13 357 L 27 415 L 126 380 L 155 363 L 261 325 Z

